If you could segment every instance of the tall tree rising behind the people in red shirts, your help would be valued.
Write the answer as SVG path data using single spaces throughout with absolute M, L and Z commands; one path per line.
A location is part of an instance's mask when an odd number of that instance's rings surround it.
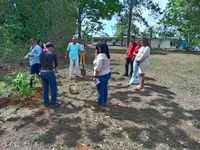
M 131 25 L 133 21 L 137 20 L 143 22 L 148 26 L 148 22 L 142 16 L 142 12 L 149 10 L 150 14 L 160 13 L 160 8 L 153 0 L 124 0 L 124 11 L 128 14 L 128 31 L 127 31 L 127 44 L 130 41 Z M 134 19 L 134 20 L 133 20 Z

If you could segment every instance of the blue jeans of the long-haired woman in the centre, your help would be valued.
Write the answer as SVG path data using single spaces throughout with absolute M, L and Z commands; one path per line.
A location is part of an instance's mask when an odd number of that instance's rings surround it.
M 99 76 L 98 80 L 100 83 L 97 85 L 98 91 L 98 105 L 102 105 L 107 102 L 108 98 L 108 80 L 111 77 L 111 73 L 108 73 L 103 76 Z

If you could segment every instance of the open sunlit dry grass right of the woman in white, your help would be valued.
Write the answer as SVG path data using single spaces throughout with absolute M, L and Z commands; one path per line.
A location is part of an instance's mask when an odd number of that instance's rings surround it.
M 199 65 L 200 55 L 166 51 L 165 55 L 151 56 L 148 72 L 162 84 L 196 96 L 200 94 Z

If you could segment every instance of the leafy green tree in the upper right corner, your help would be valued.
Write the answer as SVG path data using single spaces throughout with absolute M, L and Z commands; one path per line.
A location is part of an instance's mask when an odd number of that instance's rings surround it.
M 192 44 L 200 41 L 200 3 L 198 0 L 169 0 L 162 23 L 175 26 Z

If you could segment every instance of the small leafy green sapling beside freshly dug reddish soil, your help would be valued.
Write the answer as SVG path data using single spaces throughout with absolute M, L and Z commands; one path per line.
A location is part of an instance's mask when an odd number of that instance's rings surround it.
M 13 80 L 13 87 L 18 91 L 19 99 L 35 96 L 34 89 L 30 87 L 31 79 L 33 81 L 33 86 L 39 83 L 37 75 L 28 75 L 27 73 L 18 73 L 17 77 Z

